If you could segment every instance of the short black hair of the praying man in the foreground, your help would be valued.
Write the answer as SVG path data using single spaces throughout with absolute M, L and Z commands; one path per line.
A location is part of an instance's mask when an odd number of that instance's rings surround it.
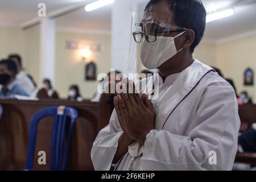
M 203 3 L 201 0 L 151 0 L 148 2 L 145 11 L 150 11 L 152 5 L 161 1 L 169 3 L 169 9 L 174 12 L 174 22 L 177 26 L 195 32 L 195 40 L 190 47 L 191 52 L 194 52 L 205 31 L 207 13 Z

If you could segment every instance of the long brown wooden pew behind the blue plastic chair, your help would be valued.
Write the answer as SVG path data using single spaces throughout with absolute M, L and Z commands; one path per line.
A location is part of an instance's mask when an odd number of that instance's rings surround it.
M 103 126 L 101 120 L 106 122 L 109 119 L 100 117 L 101 112 L 108 108 L 105 103 L 66 100 L 0 100 L 0 105 L 3 108 L 0 119 L 0 170 L 22 170 L 24 168 L 32 115 L 45 107 L 60 105 L 72 106 L 79 111 L 79 117 L 72 134 L 68 169 L 93 170 L 90 150 L 98 131 Z M 52 122 L 52 118 L 42 119 L 38 126 L 34 163 L 36 170 L 49 169 Z M 47 165 L 39 166 L 37 162 L 38 151 L 46 151 Z

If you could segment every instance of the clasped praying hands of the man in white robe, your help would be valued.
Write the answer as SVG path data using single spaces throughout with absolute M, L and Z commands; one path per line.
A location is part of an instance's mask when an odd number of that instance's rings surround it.
M 122 137 L 125 137 L 129 143 L 137 141 L 144 144 L 146 135 L 155 129 L 155 111 L 152 102 L 148 100 L 146 94 L 139 96 L 139 93 L 135 93 L 134 82 L 128 78 L 123 78 L 118 85 L 125 86 L 126 88 L 122 90 L 127 90 L 114 97 L 114 107 L 123 130 Z M 133 92 L 128 92 L 131 87 Z

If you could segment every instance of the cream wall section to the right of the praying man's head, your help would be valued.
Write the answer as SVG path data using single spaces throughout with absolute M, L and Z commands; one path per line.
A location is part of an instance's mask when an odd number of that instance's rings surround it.
M 231 78 L 238 94 L 245 90 L 255 99 L 255 85 L 243 85 L 243 73 L 249 67 L 256 73 L 256 35 L 217 43 L 202 42 L 194 56 L 205 64 L 219 68 L 225 78 Z

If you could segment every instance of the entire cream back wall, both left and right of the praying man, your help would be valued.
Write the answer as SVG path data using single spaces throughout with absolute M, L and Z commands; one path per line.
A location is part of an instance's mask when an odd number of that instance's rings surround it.
M 61 97 L 67 97 L 70 84 L 81 86 L 82 94 L 86 98 L 93 96 L 97 90 L 97 81 L 84 80 L 85 63 L 77 51 L 65 49 L 65 40 L 94 40 L 104 43 L 104 51 L 93 53 L 92 59 L 96 61 L 98 73 L 110 71 L 112 40 L 111 35 L 81 34 L 78 32 L 56 32 L 56 67 L 55 88 Z M 20 28 L 0 27 L 0 59 L 9 53 L 19 53 L 23 57 L 24 67 L 35 81 L 39 80 L 39 28 L 30 28 L 26 31 Z M 196 48 L 194 56 L 205 64 L 220 68 L 224 76 L 232 78 L 240 93 L 246 90 L 255 98 L 254 86 L 243 85 L 243 72 L 247 67 L 256 71 L 256 35 L 243 36 L 219 43 L 202 42 Z M 126 61 L 123 61 L 125 64 Z

